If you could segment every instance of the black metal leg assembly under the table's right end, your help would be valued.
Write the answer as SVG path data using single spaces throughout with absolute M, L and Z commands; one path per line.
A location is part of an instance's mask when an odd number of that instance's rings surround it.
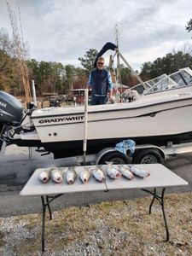
M 151 214 L 151 208 L 154 204 L 154 200 L 156 199 L 157 201 L 160 202 L 161 210 L 162 210 L 162 213 L 163 213 L 163 219 L 164 219 L 164 223 L 165 223 L 165 226 L 166 226 L 166 241 L 169 241 L 169 230 L 168 230 L 168 225 L 167 225 L 167 222 L 166 222 L 166 212 L 165 212 L 165 207 L 164 207 L 164 195 L 165 195 L 166 188 L 162 189 L 161 195 L 157 195 L 156 189 L 154 189 L 154 191 L 149 191 L 147 189 L 142 189 L 142 190 L 151 194 L 151 195 L 153 195 L 153 199 L 152 199 L 152 201 L 150 203 L 150 206 L 149 206 L 149 214 Z

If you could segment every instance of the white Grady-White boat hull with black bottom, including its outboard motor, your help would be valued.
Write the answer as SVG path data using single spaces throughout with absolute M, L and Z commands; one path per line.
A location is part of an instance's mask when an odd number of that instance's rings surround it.
M 2 139 L 18 146 L 44 147 L 55 158 L 83 154 L 84 107 L 42 108 L 28 113 L 15 97 L 0 91 Z M 192 92 L 140 97 L 134 102 L 88 106 L 87 154 L 124 139 L 157 146 L 192 142 Z

